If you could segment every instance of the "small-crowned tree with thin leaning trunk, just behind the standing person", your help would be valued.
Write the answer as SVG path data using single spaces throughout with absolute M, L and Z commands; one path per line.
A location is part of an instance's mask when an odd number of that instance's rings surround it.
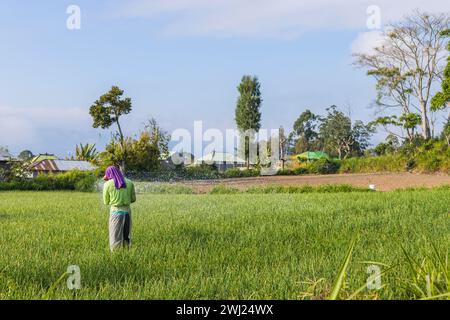
M 104 95 L 102 95 L 98 100 L 94 102 L 91 106 L 89 113 L 93 119 L 94 128 L 107 129 L 113 124 L 117 125 L 117 133 L 120 146 L 122 147 L 123 159 L 122 171 L 126 170 L 126 143 L 125 136 L 120 125 L 120 117 L 131 112 L 132 105 L 130 98 L 122 98 L 123 90 L 117 86 L 112 86 L 111 90 Z

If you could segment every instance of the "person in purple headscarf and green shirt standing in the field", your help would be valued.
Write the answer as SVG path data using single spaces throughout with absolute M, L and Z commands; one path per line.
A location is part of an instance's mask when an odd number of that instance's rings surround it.
M 126 179 L 117 167 L 108 167 L 103 177 L 103 202 L 110 206 L 109 247 L 131 245 L 131 207 L 136 201 L 136 192 L 131 180 Z

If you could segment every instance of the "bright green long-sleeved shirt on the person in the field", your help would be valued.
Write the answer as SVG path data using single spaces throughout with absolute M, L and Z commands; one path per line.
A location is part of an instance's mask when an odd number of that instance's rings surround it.
M 131 212 L 130 204 L 136 201 L 136 192 L 131 180 L 125 179 L 126 188 L 117 190 L 114 181 L 109 180 L 103 186 L 103 202 L 111 206 L 110 212 Z

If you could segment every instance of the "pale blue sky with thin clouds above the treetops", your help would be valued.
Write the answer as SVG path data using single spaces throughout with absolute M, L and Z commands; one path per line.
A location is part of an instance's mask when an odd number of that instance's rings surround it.
M 128 134 L 151 116 L 169 132 L 195 120 L 234 128 L 244 74 L 262 83 L 264 128 L 290 130 L 306 108 L 332 104 L 366 121 L 374 82 L 351 54 L 372 44 L 367 7 L 378 5 L 383 23 L 413 8 L 450 9 L 447 1 L 375 2 L 1 0 L 0 145 L 62 157 L 80 142 L 101 149 L 110 133 L 91 128 L 88 110 L 111 85 L 133 100 Z M 80 30 L 66 27 L 72 4 Z

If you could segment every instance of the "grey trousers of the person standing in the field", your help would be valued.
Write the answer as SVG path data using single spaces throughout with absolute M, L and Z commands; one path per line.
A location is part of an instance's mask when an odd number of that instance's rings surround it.
M 109 248 L 131 245 L 131 213 L 109 215 Z

